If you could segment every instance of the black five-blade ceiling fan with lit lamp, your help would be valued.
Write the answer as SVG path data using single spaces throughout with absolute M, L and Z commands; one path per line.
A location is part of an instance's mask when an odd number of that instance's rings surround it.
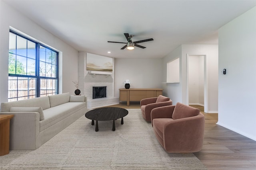
M 132 50 L 132 49 L 134 49 L 134 46 L 140 47 L 142 49 L 146 48 L 146 47 L 143 47 L 141 45 L 138 45 L 137 43 L 143 43 L 143 42 L 146 42 L 146 41 L 153 41 L 154 40 L 154 39 L 150 38 L 150 39 L 144 39 L 144 40 L 132 42 L 133 35 L 129 35 L 128 33 L 124 33 L 124 36 L 126 37 L 126 39 L 128 41 L 127 43 L 116 42 L 116 41 L 108 41 L 108 43 L 123 43 L 123 44 L 126 44 L 126 45 L 124 47 L 122 47 L 121 50 L 125 49 L 126 47 L 127 47 L 127 49 Z

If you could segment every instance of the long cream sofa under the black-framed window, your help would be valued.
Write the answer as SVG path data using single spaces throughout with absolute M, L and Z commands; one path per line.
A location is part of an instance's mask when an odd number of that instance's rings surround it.
M 12 114 L 10 150 L 35 150 L 87 112 L 86 97 L 69 93 L 1 103 Z

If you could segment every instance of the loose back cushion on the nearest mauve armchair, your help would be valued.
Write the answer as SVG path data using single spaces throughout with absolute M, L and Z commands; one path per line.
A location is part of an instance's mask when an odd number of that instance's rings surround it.
M 198 115 L 199 113 L 199 109 L 178 102 L 172 113 L 172 119 L 192 117 Z

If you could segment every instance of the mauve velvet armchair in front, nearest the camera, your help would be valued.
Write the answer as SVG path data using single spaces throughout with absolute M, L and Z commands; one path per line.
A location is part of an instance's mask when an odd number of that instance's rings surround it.
M 154 134 L 167 152 L 198 152 L 204 139 L 204 115 L 182 103 L 151 111 Z

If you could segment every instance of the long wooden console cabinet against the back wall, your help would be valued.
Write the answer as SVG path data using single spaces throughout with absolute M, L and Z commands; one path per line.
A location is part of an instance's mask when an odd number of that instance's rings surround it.
M 161 88 L 120 88 L 119 100 L 126 101 L 127 106 L 130 106 L 130 101 L 139 102 L 142 99 L 158 97 L 162 93 Z

